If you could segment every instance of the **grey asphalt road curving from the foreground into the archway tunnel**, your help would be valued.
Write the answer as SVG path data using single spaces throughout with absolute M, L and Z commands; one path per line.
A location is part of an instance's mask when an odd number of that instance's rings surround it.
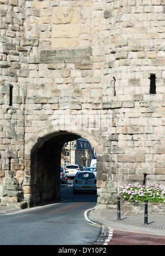
M 96 194 L 73 194 L 72 181 L 61 185 L 60 203 L 0 215 L 0 245 L 91 245 L 101 227 L 84 212 L 96 205 Z

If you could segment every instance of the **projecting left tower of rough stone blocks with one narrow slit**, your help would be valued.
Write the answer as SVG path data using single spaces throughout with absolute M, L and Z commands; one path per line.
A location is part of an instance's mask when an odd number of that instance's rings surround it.
M 23 199 L 24 134 L 27 70 L 21 64 L 24 2 L 0 1 L 0 203 Z M 11 184 L 11 186 L 10 186 Z M 4 202 L 5 201 L 5 202 Z

